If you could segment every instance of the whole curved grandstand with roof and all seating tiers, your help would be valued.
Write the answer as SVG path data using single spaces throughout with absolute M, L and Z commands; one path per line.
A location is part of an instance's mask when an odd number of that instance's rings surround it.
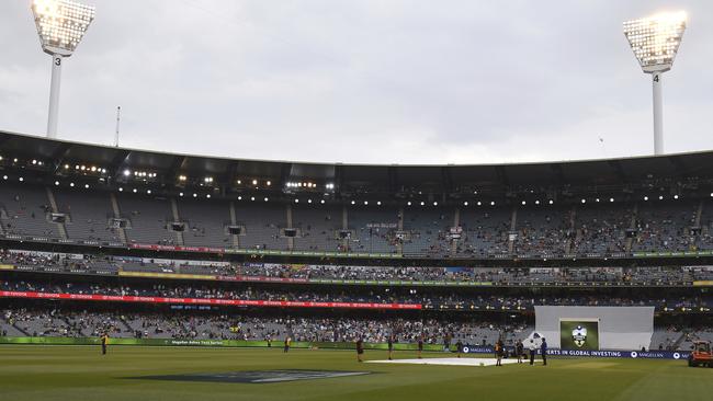
M 656 310 L 644 347 L 674 350 L 713 326 L 712 165 L 259 161 L 0 133 L 0 324 L 487 345 L 524 337 L 537 305 L 626 305 Z

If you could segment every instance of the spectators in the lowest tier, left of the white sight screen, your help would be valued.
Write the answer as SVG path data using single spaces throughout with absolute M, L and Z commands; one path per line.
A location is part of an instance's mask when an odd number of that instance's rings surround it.
M 2 326 L 4 324 L 4 326 Z M 15 329 L 30 336 L 100 336 L 135 339 L 194 339 L 305 342 L 386 342 L 491 345 L 498 339 L 513 342 L 532 330 L 523 322 L 498 324 L 487 320 L 449 321 L 407 318 L 254 317 L 216 313 L 126 313 L 77 309 L 5 309 L 2 330 Z

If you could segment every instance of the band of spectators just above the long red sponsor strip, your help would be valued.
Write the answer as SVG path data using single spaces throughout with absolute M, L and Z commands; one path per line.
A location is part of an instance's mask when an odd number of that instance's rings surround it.
M 110 285 L 27 280 L 2 280 L 0 289 L 50 294 L 111 295 L 166 298 L 214 298 L 237 300 L 303 301 L 303 302 L 365 302 L 411 303 L 427 309 L 532 310 L 536 305 L 563 306 L 653 306 L 659 311 L 710 310 L 713 299 L 705 296 L 657 294 L 656 296 L 592 295 L 493 295 L 474 291 L 429 291 L 426 288 L 333 288 L 276 289 L 241 286 L 225 288 L 206 285 L 150 284 Z

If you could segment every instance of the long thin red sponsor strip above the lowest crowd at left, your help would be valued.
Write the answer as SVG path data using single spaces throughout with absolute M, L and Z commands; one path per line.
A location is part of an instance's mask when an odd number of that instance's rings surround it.
M 220 298 L 167 298 L 167 297 L 136 297 L 123 295 L 97 294 L 64 294 L 64 293 L 34 293 L 34 291 L 0 291 L 3 298 L 32 298 L 32 299 L 68 299 L 88 301 L 113 302 L 144 302 L 144 303 L 179 303 L 179 305 L 214 305 L 234 307 L 287 307 L 287 308 L 339 308 L 339 309 L 421 309 L 420 303 L 370 303 L 370 302 L 309 302 L 309 301 L 273 301 L 252 299 L 220 299 Z

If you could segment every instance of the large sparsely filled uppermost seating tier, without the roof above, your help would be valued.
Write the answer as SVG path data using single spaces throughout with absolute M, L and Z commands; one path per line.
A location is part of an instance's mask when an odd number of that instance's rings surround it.
M 713 203 L 692 199 L 399 209 L 168 198 L 24 180 L 0 186 L 2 236 L 38 242 L 476 260 L 624 257 L 713 243 Z

